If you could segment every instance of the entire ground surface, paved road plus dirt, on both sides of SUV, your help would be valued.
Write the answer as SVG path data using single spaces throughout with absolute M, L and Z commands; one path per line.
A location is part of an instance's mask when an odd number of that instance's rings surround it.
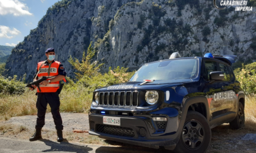
M 29 115 L 24 117 L 13 117 L 8 121 L 0 121 L 0 126 L 7 124 L 16 125 L 18 131 L 20 127 L 25 126 L 27 130 L 22 132 L 15 132 L 14 129 L 7 131 L 0 130 L 0 153 L 11 152 L 111 152 L 111 153 L 151 153 L 151 152 L 170 152 L 164 149 L 143 148 L 140 146 L 133 146 L 130 144 L 118 143 L 114 141 L 98 139 L 89 135 L 88 133 L 74 133 L 73 130 L 88 131 L 88 114 L 73 114 L 62 113 L 62 120 L 64 126 L 65 140 L 62 143 L 57 143 L 54 121 L 52 115 L 46 114 L 46 124 L 43 127 L 43 140 L 29 142 L 30 135 L 34 133 L 36 115 Z M 17 129 L 16 129 L 17 130 Z M 256 143 L 246 141 L 242 138 L 244 135 L 251 133 L 256 134 L 255 131 L 248 131 L 245 128 L 239 130 L 232 130 L 229 124 L 222 124 L 221 126 L 212 129 L 212 141 L 207 149 L 207 153 L 221 153 L 221 152 L 243 152 L 255 153 Z M 22 139 L 22 140 L 19 140 Z M 71 141 L 70 143 L 68 141 Z M 81 143 L 82 142 L 82 143 Z M 98 146 L 97 144 L 105 145 Z

